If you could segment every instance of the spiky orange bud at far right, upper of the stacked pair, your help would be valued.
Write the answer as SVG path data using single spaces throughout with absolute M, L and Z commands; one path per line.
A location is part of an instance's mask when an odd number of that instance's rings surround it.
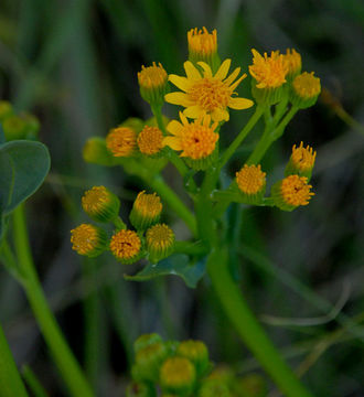
M 292 154 L 286 167 L 285 175 L 298 174 L 306 176 L 308 181 L 311 179 L 313 165 L 315 160 L 315 151 L 307 146 L 303 148 L 303 142 L 298 148 L 296 144 L 292 147 Z

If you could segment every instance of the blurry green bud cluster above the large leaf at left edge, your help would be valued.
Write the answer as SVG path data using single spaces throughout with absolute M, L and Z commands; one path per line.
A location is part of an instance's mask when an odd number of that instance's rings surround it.
M 17 115 L 12 105 L 7 100 L 0 100 L 0 124 L 7 141 L 34 140 L 40 130 L 40 122 L 35 116 L 28 112 Z

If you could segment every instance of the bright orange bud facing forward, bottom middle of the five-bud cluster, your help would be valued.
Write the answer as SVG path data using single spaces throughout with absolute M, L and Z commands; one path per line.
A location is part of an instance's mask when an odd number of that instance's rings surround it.
M 110 240 L 110 250 L 122 264 L 132 264 L 139 258 L 141 242 L 133 230 L 121 229 Z

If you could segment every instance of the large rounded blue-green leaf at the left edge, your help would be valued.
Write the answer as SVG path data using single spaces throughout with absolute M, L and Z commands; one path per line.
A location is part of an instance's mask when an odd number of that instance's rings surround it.
M 1 218 L 40 187 L 50 165 L 49 150 L 40 142 L 19 140 L 0 146 Z

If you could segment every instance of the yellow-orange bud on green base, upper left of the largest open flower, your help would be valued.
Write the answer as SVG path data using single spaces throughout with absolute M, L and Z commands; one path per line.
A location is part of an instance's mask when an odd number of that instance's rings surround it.
M 163 66 L 159 63 L 152 66 L 141 66 L 141 71 L 138 73 L 138 82 L 140 88 L 140 95 L 150 105 L 160 106 L 164 101 L 164 95 L 168 89 L 168 74 Z

